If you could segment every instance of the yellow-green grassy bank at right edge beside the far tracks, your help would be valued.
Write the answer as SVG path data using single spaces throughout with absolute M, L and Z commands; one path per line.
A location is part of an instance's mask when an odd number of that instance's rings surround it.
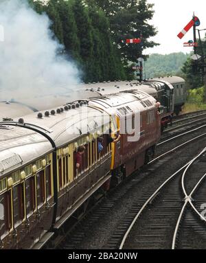
M 203 102 L 204 88 L 190 89 L 187 102 L 183 106 L 183 113 L 206 110 L 206 103 Z

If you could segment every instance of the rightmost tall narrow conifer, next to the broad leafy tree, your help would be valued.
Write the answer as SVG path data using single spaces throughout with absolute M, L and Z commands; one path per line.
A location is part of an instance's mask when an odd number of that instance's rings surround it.
M 126 78 L 117 47 L 111 41 L 108 19 L 94 1 L 90 1 L 89 16 L 93 26 L 93 54 L 95 55 L 93 78 L 95 81 Z

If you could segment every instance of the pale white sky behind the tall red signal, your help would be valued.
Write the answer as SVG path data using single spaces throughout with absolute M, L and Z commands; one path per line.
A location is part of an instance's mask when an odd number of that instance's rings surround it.
M 148 3 L 155 3 L 155 15 L 150 24 L 155 25 L 159 32 L 151 39 L 161 45 L 146 49 L 144 54 L 190 53 L 192 47 L 183 47 L 183 43 L 193 39 L 192 29 L 182 39 L 177 34 L 190 22 L 193 12 L 201 21 L 197 28 L 206 29 L 206 0 L 148 0 Z M 201 32 L 203 38 L 205 33 Z

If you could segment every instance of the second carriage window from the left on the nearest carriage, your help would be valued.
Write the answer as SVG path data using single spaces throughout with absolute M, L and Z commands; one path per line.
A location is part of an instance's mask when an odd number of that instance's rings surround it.
M 23 183 L 13 188 L 14 225 L 25 217 L 23 188 Z

